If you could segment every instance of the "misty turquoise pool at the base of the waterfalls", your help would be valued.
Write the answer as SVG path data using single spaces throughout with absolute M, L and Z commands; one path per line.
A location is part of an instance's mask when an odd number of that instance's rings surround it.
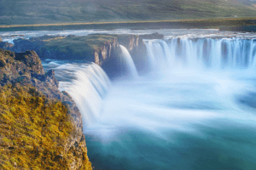
M 113 82 L 85 136 L 96 169 L 256 169 L 254 71 Z

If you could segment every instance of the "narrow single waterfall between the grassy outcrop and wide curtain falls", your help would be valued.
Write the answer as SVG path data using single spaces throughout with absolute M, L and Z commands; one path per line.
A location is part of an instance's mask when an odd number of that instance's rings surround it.
M 129 75 L 130 77 L 136 78 L 137 69 L 136 69 L 136 66 L 134 65 L 133 59 L 131 58 L 131 54 L 124 46 L 119 45 L 119 47 L 121 48 L 121 51 L 122 51 L 121 59 L 124 63 L 125 74 Z

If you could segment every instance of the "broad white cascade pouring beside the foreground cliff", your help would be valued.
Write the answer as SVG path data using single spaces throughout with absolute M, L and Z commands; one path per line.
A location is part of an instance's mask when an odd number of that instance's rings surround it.
M 63 70 L 65 67 L 74 71 L 76 66 L 61 65 L 60 69 Z M 72 96 L 82 114 L 84 125 L 88 126 L 100 116 L 103 98 L 108 92 L 110 81 L 102 68 L 94 63 L 79 65 L 74 74 L 73 82 L 60 82 L 60 90 L 67 91 Z

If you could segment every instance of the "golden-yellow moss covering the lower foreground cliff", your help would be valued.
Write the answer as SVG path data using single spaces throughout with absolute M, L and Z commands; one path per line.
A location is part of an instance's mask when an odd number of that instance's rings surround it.
M 0 96 L 0 169 L 67 169 L 73 153 L 62 144 L 75 130 L 67 107 L 32 86 L 4 86 Z M 86 153 L 81 169 L 91 169 Z

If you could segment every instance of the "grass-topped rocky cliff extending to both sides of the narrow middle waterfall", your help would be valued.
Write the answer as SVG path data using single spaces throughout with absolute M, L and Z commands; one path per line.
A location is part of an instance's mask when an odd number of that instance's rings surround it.
M 17 53 L 34 50 L 41 59 L 83 60 L 101 65 L 109 77 L 121 72 L 121 53 L 119 45 L 125 46 L 131 54 L 138 71 L 145 71 L 148 65 L 147 50 L 143 39 L 161 39 L 158 33 L 148 35 L 92 34 L 76 36 L 44 36 L 18 39 L 14 44 L 0 42 L 0 48 Z

